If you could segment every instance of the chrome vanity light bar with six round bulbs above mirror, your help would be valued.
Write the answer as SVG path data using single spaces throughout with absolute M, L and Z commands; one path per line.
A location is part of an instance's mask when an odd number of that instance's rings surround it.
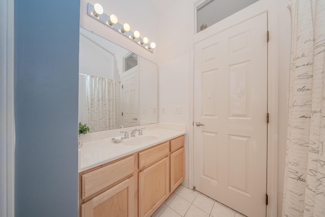
M 124 37 L 128 38 L 129 40 L 133 41 L 134 43 L 137 43 L 144 49 L 153 53 L 153 49 L 155 48 L 154 42 L 150 43 L 147 37 L 141 38 L 139 31 L 135 30 L 133 32 L 132 30 L 130 30 L 130 27 L 127 23 L 124 23 L 124 24 L 119 23 L 116 15 L 105 14 L 103 7 L 100 4 L 96 3 L 95 5 L 96 5 L 96 7 L 94 8 L 93 5 L 88 3 L 87 14 L 90 17 L 94 18 L 95 20 L 100 21 L 107 27 L 114 29 L 116 32 L 120 33 Z M 98 12 L 98 11 L 100 11 L 100 12 Z M 116 22 L 115 22 L 115 20 L 116 20 Z

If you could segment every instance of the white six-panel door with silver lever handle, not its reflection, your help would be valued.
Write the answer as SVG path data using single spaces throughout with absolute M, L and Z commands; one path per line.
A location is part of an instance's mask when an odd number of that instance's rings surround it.
M 250 217 L 266 215 L 267 84 L 267 13 L 194 45 L 194 187 Z

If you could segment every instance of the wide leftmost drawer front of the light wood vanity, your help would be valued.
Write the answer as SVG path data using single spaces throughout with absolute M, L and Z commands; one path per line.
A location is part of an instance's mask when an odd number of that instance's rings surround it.
M 134 156 L 82 175 L 81 196 L 85 199 L 134 173 Z

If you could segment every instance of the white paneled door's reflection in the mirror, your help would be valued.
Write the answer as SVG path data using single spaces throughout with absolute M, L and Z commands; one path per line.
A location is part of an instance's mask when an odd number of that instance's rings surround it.
M 123 127 L 138 126 L 139 114 L 139 67 L 133 67 L 122 75 Z

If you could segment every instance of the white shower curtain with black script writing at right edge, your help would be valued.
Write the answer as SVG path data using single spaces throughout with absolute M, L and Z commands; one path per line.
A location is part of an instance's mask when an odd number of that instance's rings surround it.
M 291 0 L 282 216 L 325 216 L 325 0 Z

